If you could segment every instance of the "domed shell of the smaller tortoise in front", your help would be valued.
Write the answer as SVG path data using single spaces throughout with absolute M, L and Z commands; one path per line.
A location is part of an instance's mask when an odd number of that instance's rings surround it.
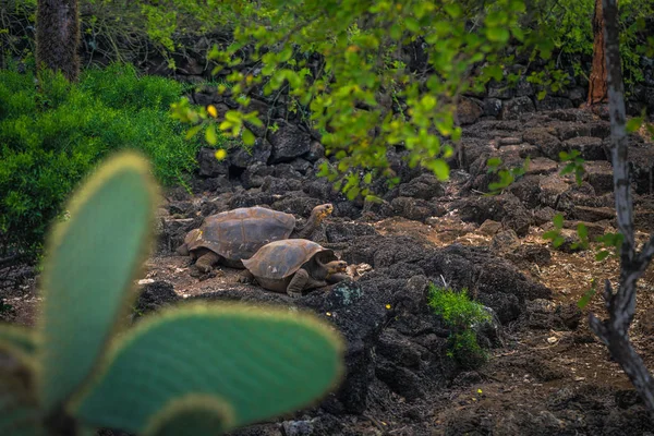
M 315 255 L 322 263 L 338 261 L 331 250 L 306 239 L 287 239 L 264 245 L 254 256 L 243 259 L 243 265 L 254 277 L 283 279 L 294 274 Z

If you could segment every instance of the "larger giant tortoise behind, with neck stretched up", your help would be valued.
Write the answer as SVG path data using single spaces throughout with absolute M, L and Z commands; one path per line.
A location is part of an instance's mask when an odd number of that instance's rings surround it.
M 210 271 L 217 264 L 242 269 L 241 261 L 252 257 L 268 242 L 308 238 L 332 210 L 331 204 L 316 206 L 301 228 L 291 214 L 265 207 L 223 211 L 207 217 L 198 229 L 191 230 L 177 253 L 197 259 L 195 265 L 203 272 Z

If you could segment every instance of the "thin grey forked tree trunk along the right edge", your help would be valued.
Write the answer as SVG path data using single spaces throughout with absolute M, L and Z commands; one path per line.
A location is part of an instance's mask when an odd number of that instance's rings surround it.
M 590 327 L 608 347 L 613 358 L 620 364 L 645 405 L 654 411 L 654 379 L 643 360 L 629 340 L 629 327 L 635 313 L 638 279 L 645 272 L 654 257 L 654 235 L 637 252 L 633 231 L 633 203 L 629 186 L 629 161 L 627 147 L 625 85 L 619 47 L 617 0 L 604 0 L 604 25 L 606 40 L 606 70 L 608 107 L 610 114 L 610 148 L 614 167 L 614 190 L 617 221 L 625 241 L 620 249 L 620 282 L 616 293 L 606 280 L 604 300 L 609 318 L 600 320 L 590 314 Z

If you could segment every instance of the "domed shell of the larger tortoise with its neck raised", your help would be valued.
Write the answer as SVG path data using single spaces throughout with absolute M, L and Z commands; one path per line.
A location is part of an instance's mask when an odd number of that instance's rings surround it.
M 295 217 L 265 207 L 240 207 L 207 217 L 186 234 L 189 250 L 208 249 L 231 261 L 252 257 L 268 242 L 287 239 Z

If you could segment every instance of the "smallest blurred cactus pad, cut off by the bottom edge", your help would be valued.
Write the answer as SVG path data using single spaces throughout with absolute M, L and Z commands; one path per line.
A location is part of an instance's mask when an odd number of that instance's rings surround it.
M 233 410 L 225 401 L 191 393 L 171 401 L 155 415 L 143 436 L 218 435 L 233 425 Z

